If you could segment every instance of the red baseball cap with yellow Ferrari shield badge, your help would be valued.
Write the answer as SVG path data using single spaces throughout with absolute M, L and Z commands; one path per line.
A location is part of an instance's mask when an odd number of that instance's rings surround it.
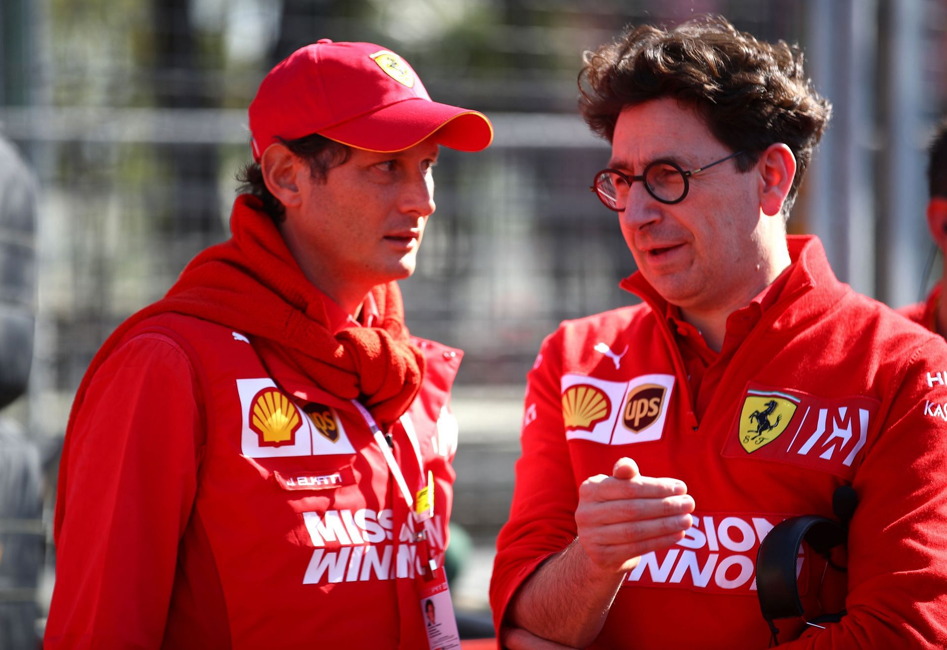
M 414 69 L 381 45 L 321 39 L 297 49 L 259 84 L 250 104 L 253 157 L 279 138 L 319 134 L 372 152 L 400 152 L 438 132 L 464 152 L 490 145 L 482 113 L 432 101 Z

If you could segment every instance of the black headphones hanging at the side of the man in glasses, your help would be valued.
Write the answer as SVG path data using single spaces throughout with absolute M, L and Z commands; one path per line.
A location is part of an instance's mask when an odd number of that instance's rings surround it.
M 832 569 L 846 570 L 831 562 L 831 550 L 846 543 L 849 520 L 858 505 L 858 496 L 849 485 L 838 487 L 832 495 L 832 510 L 840 521 L 824 516 L 795 516 L 779 522 L 759 544 L 757 552 L 757 596 L 763 619 L 769 625 L 773 637 L 770 645 L 778 642 L 779 629 L 775 619 L 803 616 L 805 611 L 799 598 L 795 581 L 795 559 L 799 546 L 805 540 L 813 551 L 819 553 Z M 845 610 L 828 614 L 808 623 L 835 623 L 845 616 Z

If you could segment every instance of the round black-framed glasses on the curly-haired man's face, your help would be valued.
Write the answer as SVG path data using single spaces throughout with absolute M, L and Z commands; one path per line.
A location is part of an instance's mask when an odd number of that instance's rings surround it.
M 743 152 L 731 153 L 725 158 L 707 163 L 703 167 L 689 172 L 685 172 L 680 165 L 670 160 L 655 160 L 645 168 L 640 176 L 630 176 L 625 172 L 606 169 L 595 175 L 595 183 L 592 184 L 589 190 L 599 195 L 599 199 L 605 204 L 605 208 L 616 212 L 625 209 L 628 190 L 632 187 L 634 181 L 643 181 L 645 190 L 648 190 L 648 193 L 661 203 L 680 203 L 688 195 L 690 189 L 689 178 L 741 153 Z

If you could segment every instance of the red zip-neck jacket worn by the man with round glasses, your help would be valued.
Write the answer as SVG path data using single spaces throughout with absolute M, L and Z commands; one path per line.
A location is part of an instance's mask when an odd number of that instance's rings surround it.
M 947 644 L 947 346 L 835 280 L 815 238 L 789 246 L 785 286 L 700 420 L 659 316 L 667 303 L 640 275 L 624 286 L 644 304 L 564 322 L 546 338 L 497 540 L 496 623 L 529 574 L 575 539 L 581 482 L 628 456 L 642 474 L 688 484 L 694 527 L 641 558 L 591 647 L 767 647 L 759 540 L 788 516 L 834 518 L 832 493 L 844 484 L 860 498 L 848 583 L 831 569 L 823 580 L 811 553 L 797 566 L 808 611 L 844 605 L 848 616 L 809 628 L 797 646 Z M 832 597 L 845 592 L 844 604 Z M 780 641 L 803 628 L 777 626 Z

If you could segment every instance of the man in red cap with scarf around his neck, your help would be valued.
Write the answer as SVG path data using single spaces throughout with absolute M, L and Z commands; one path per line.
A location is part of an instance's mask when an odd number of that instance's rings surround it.
M 433 647 L 461 352 L 409 336 L 438 145 L 489 120 L 379 45 L 262 81 L 232 237 L 123 323 L 66 431 L 46 647 Z M 433 636 L 432 636 L 433 635 Z M 441 635 L 442 638 L 434 638 Z

